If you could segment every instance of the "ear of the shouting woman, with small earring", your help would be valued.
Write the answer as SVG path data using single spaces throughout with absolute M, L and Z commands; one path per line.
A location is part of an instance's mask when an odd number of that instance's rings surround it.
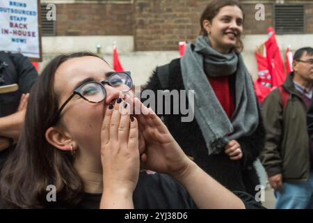
M 48 128 L 45 137 L 49 144 L 60 149 L 61 151 L 71 151 L 72 148 L 74 150 L 74 143 L 71 137 L 56 127 Z

